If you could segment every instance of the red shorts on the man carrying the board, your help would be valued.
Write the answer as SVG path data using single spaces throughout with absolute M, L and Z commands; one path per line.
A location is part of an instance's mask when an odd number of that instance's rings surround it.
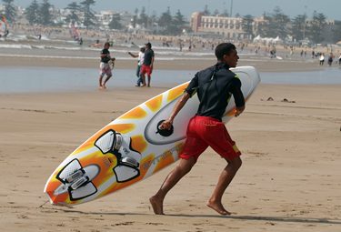
M 186 143 L 179 157 L 189 159 L 197 158 L 211 146 L 216 153 L 233 160 L 241 153 L 236 147 L 235 141 L 231 139 L 224 123 L 209 116 L 194 116 L 188 123 Z

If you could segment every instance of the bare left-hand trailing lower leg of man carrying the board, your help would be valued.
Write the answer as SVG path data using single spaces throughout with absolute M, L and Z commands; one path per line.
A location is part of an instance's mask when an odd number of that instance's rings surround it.
M 155 196 L 150 197 L 149 201 L 153 207 L 154 213 L 156 215 L 164 214 L 164 199 L 168 191 L 176 186 L 176 183 L 184 177 L 191 169 L 192 166 L 196 164 L 196 159 L 190 157 L 189 159 L 180 159 L 180 163 L 171 171 L 167 177 L 165 177 L 165 182 L 162 184 L 160 189 L 157 191 Z

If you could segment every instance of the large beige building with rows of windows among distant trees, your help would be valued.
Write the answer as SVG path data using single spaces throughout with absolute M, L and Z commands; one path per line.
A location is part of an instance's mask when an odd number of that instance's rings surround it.
M 208 16 L 201 12 L 195 12 L 191 16 L 194 33 L 213 33 L 226 38 L 246 38 L 242 23 L 242 17 Z

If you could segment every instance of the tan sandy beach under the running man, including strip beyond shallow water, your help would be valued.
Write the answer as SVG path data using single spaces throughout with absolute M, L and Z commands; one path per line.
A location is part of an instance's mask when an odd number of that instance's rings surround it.
M 13 64 L 13 57 L 1 66 Z M 14 59 L 14 58 L 13 58 Z M 67 60 L 15 58 L 22 66 Z M 78 60 L 72 66 L 97 65 Z M 157 61 L 196 69 L 214 60 Z M 250 64 L 251 63 L 251 64 Z M 128 61 L 117 63 L 135 68 Z M 304 62 L 239 62 L 260 71 L 320 68 Z M 169 86 L 171 87 L 171 86 Z M 227 124 L 244 164 L 227 189 L 221 217 L 206 207 L 225 164 L 208 149 L 155 216 L 148 198 L 173 166 L 135 186 L 74 208 L 46 203 L 45 181 L 66 156 L 115 117 L 166 88 L 0 95 L 1 231 L 341 231 L 341 86 L 261 84 L 245 113 Z M 273 101 L 267 101 L 269 97 Z M 288 102 L 283 101 L 287 99 Z

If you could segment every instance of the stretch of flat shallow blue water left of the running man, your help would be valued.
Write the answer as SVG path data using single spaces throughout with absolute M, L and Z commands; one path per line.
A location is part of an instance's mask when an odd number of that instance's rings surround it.
M 152 86 L 171 87 L 190 80 L 196 71 L 155 70 Z M 99 69 L 64 67 L 2 67 L 0 94 L 91 91 L 98 87 Z M 135 86 L 133 69 L 115 69 L 106 86 L 110 89 Z

